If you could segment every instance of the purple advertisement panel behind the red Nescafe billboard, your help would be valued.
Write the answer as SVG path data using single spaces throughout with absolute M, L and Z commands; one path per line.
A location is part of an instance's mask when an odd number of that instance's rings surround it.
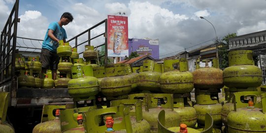
M 154 59 L 159 59 L 159 40 L 129 39 L 129 55 L 135 51 L 139 56 L 148 54 Z

